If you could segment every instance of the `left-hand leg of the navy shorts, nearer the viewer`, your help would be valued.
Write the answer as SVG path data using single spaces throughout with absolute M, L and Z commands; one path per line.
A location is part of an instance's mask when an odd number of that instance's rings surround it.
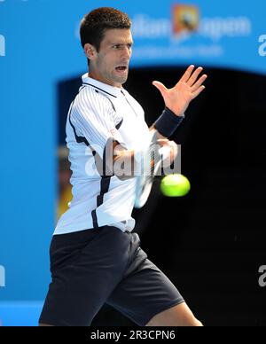
M 129 238 L 115 227 L 81 231 L 51 242 L 51 275 L 40 323 L 90 325 L 120 282 Z

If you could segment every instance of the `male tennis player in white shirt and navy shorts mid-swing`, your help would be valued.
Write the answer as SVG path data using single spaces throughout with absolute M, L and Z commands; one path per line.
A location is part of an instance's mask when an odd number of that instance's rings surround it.
M 81 22 L 89 73 L 82 75 L 66 121 L 73 199 L 51 240 L 52 281 L 40 325 L 88 326 L 105 303 L 140 326 L 201 325 L 132 232 L 132 171 L 149 128 L 142 107 L 122 87 L 132 52 L 130 25 L 126 13 L 109 7 Z M 171 160 L 176 144 L 168 137 L 204 89 L 201 70 L 189 66 L 172 89 L 153 82 L 166 106 L 153 129 L 161 145 L 172 147 Z

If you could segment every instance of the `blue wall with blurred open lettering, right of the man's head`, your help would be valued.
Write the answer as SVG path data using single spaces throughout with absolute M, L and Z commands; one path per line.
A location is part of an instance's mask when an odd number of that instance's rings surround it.
M 266 4 L 165 1 L 132 11 L 134 66 L 195 65 L 266 73 Z

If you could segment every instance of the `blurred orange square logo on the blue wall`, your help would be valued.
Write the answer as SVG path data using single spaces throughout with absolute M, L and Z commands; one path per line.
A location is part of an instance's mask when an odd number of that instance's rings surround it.
M 199 27 L 199 8 L 193 5 L 173 5 L 173 33 L 181 35 L 185 32 L 197 31 Z

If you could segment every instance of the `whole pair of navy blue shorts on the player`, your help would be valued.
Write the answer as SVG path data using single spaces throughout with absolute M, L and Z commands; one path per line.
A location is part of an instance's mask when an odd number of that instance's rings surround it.
M 137 233 L 111 226 L 54 235 L 52 281 L 39 322 L 88 326 L 107 303 L 144 326 L 183 302 L 139 245 Z

